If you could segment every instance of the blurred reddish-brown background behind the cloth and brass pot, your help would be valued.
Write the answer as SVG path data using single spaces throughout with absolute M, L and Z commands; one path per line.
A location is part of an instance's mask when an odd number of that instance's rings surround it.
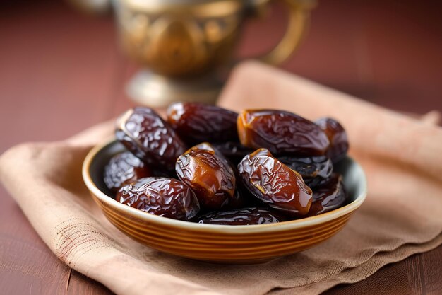
M 309 32 L 282 69 L 403 112 L 442 110 L 441 1 L 319 1 Z M 268 50 L 287 11 L 247 21 L 237 55 Z M 119 49 L 112 13 L 66 1 L 0 2 L 0 153 L 64 139 L 133 105 L 139 69 Z

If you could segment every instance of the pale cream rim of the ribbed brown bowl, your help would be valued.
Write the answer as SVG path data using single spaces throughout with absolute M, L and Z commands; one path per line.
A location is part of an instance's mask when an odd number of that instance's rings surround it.
M 295 219 L 291 221 L 282 221 L 274 224 L 251 224 L 251 225 L 240 225 L 240 226 L 229 226 L 229 225 L 220 225 L 220 224 L 198 224 L 195 222 L 170 219 L 167 217 L 143 212 L 136 208 L 129 207 L 125 204 L 121 204 L 117 202 L 115 199 L 112 199 L 112 197 L 106 195 L 97 187 L 97 185 L 95 185 L 94 181 L 92 180 L 92 176 L 90 175 L 90 166 L 92 164 L 92 161 L 95 159 L 95 156 L 97 156 L 97 154 L 100 151 L 105 149 L 107 146 L 114 144 L 114 142 L 116 141 L 117 141 L 116 139 L 110 139 L 104 141 L 104 143 L 97 144 L 92 149 L 90 149 L 90 151 L 88 152 L 88 154 L 86 155 L 83 161 L 83 167 L 82 167 L 83 181 L 86 187 L 88 187 L 88 190 L 90 190 L 90 192 L 92 193 L 92 195 L 94 195 L 97 199 L 100 199 L 101 202 L 108 204 L 110 207 L 120 209 L 121 211 L 123 211 L 126 214 L 129 214 L 132 217 L 141 219 L 146 222 L 150 222 L 152 224 L 162 224 L 164 226 L 170 226 L 173 228 L 183 229 L 186 231 L 189 230 L 211 231 L 215 233 L 222 232 L 222 233 L 232 233 L 232 234 L 265 233 L 270 231 L 286 231 L 289 229 L 302 229 L 310 226 L 317 226 L 318 224 L 323 224 L 333 219 L 338 219 L 340 216 L 344 216 L 346 214 L 354 212 L 354 210 L 356 210 L 362 205 L 367 195 L 366 175 L 364 173 L 364 170 L 359 165 L 359 163 L 357 163 L 357 161 L 354 161 L 352 158 L 347 156 L 348 158 L 350 158 L 350 160 L 353 163 L 359 166 L 362 172 L 362 178 L 360 180 L 360 185 L 362 185 L 362 193 L 359 194 L 356 197 L 356 199 L 354 199 L 354 201 L 351 202 L 350 204 L 347 204 L 343 207 L 332 210 L 330 212 L 326 212 L 324 214 L 320 214 L 317 216 Z

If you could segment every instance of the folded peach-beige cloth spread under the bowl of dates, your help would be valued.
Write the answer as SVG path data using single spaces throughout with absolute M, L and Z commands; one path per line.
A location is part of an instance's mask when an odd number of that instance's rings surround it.
M 116 294 L 318 294 L 442 243 L 442 129 L 261 64 L 239 66 L 220 105 L 279 108 L 347 129 L 369 195 L 347 226 L 302 253 L 262 265 L 213 265 L 139 245 L 104 218 L 81 178 L 112 122 L 56 143 L 22 144 L 0 178 L 51 250 Z M 431 115 L 434 117 L 434 115 Z

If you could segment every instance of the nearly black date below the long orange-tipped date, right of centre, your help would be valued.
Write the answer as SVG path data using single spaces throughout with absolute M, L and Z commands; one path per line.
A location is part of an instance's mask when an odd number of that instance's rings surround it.
M 326 156 L 306 158 L 279 156 L 277 159 L 287 165 L 290 169 L 301 174 L 302 179 L 306 185 L 309 185 L 309 187 L 321 185 L 321 183 L 333 173 L 333 163 Z

